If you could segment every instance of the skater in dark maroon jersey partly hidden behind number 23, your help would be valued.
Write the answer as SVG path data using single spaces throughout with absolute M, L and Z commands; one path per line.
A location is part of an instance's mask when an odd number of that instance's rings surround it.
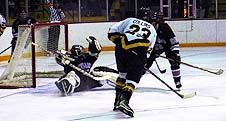
M 148 58 L 146 68 L 150 68 L 153 64 L 153 61 L 158 57 L 158 55 L 165 53 L 166 57 L 172 58 L 175 61 L 170 61 L 171 71 L 173 79 L 176 85 L 176 88 L 181 88 L 181 75 L 180 75 L 180 49 L 179 41 L 176 39 L 175 34 L 171 27 L 164 22 L 163 13 L 155 12 L 151 17 L 151 23 L 155 26 L 157 31 L 157 40 L 154 46 L 154 49 Z

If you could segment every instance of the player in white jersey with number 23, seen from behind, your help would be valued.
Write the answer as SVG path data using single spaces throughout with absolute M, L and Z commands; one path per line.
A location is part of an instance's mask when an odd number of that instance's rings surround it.
M 108 38 L 115 44 L 115 58 L 119 76 L 117 78 L 116 96 L 113 110 L 120 110 L 133 117 L 134 111 L 129 100 L 138 85 L 147 52 L 154 47 L 157 33 L 148 23 L 148 11 L 138 10 L 137 18 L 127 18 L 110 27 Z

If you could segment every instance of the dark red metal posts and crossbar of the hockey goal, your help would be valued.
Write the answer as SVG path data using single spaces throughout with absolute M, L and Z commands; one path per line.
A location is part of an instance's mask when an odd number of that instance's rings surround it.
M 36 31 L 38 31 L 39 28 L 41 27 L 50 27 L 50 26 L 61 26 L 63 27 L 64 29 L 62 30 L 62 32 L 64 33 L 63 34 L 63 43 L 64 45 L 62 46 L 61 49 L 65 49 L 66 51 L 68 51 L 68 23 L 67 22 L 56 22 L 56 23 L 36 23 L 36 24 L 32 24 L 32 25 L 21 25 L 21 26 L 28 26 L 30 27 L 30 42 L 33 42 L 35 43 L 36 41 L 37 42 L 40 42 L 40 40 L 38 38 L 36 38 Z M 37 29 L 37 30 L 36 30 Z M 18 38 L 19 39 L 19 38 Z M 37 39 L 37 40 L 36 40 Z M 28 39 L 27 39 L 28 41 Z M 60 43 L 58 43 L 60 44 Z M 30 54 L 31 54 L 31 62 L 29 62 L 29 65 L 31 65 L 31 81 L 30 81 L 30 85 L 29 86 L 20 86 L 20 85 L 0 85 L 0 89 L 15 89 L 15 88 L 36 88 L 37 86 L 37 78 L 51 78 L 52 76 L 50 77 L 40 77 L 39 74 L 53 74 L 53 73 L 49 73 L 49 72 L 44 72 L 44 73 L 39 73 L 38 70 L 36 70 L 36 56 L 38 56 L 38 51 L 36 52 L 36 50 L 38 49 L 35 45 L 33 44 L 30 44 L 29 45 L 31 50 L 30 50 Z M 37 48 L 37 49 L 36 49 Z M 45 56 L 45 55 L 44 55 Z M 1 76 L 1 75 L 0 75 Z M 58 76 L 57 76 L 58 77 Z M 56 77 L 53 77 L 53 78 L 56 78 Z M 11 81 L 11 80 L 9 80 Z M 16 80 L 15 82 L 19 82 L 19 80 Z

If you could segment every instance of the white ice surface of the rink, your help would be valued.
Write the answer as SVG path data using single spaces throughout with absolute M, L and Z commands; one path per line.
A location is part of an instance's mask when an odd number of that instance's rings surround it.
M 226 71 L 226 47 L 181 48 L 182 62 L 211 71 Z M 151 71 L 175 88 L 170 65 L 157 59 Z M 4 64 L 1 64 L 4 65 Z M 114 53 L 102 52 L 94 66 L 116 68 Z M 0 67 L 0 73 L 5 66 Z M 196 92 L 182 99 L 151 74 L 146 73 L 135 90 L 130 106 L 134 117 L 113 112 L 113 87 L 61 96 L 57 80 L 39 79 L 37 88 L 0 89 L 0 121 L 226 121 L 226 73 L 215 75 L 181 64 L 182 89 Z

